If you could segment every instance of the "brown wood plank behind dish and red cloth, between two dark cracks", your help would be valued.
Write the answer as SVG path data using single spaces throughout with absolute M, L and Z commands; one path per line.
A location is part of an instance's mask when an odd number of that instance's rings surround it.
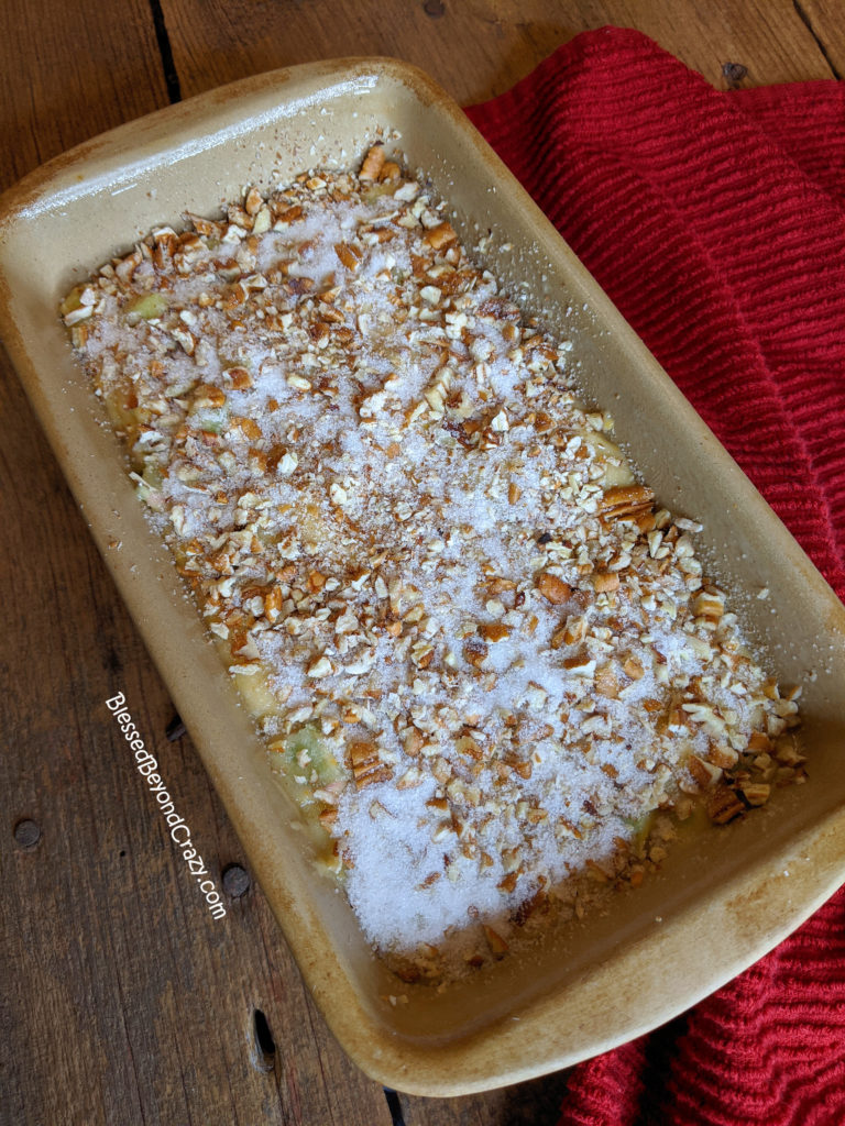
M 829 78 L 792 0 L 163 0 L 185 96 L 247 74 L 335 55 L 394 55 L 428 71 L 463 105 L 508 89 L 578 32 L 615 24 L 656 38 L 714 86 L 722 68 L 748 69 L 748 83 Z M 833 16 L 822 21 L 835 24 Z

